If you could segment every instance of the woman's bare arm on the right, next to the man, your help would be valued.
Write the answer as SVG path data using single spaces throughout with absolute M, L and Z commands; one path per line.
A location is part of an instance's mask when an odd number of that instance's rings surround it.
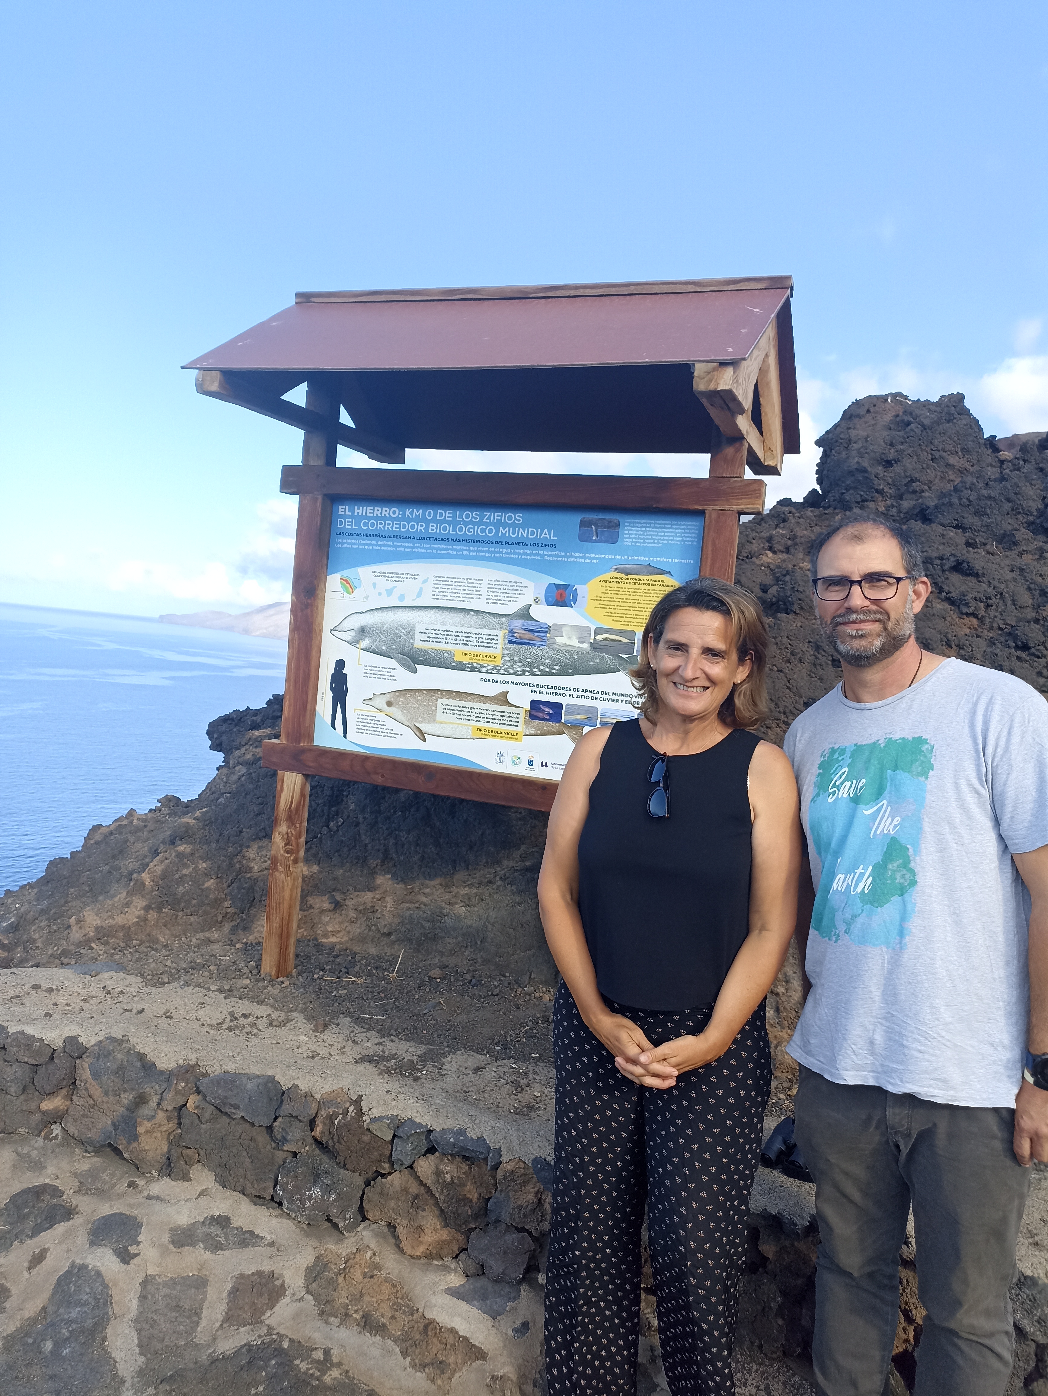
M 643 1086 L 666 1089 L 678 1072 L 705 1067 L 726 1053 L 772 987 L 790 948 L 801 867 L 797 783 L 784 754 L 768 741 L 761 743 L 749 765 L 749 800 L 754 812 L 749 934 L 702 1033 L 677 1037 L 650 1053 L 617 1062 L 620 1071 Z M 671 1079 L 667 1079 L 667 1069 L 673 1072 Z

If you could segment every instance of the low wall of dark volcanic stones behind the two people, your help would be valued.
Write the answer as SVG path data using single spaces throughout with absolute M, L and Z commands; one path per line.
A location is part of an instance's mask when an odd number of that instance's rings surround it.
M 269 1075 L 205 1074 L 194 1064 L 165 1071 L 126 1037 L 91 1047 L 66 1037 L 52 1046 L 0 1027 L 0 1134 L 49 1131 L 64 1131 L 87 1150 L 116 1150 L 152 1178 L 187 1181 L 204 1166 L 219 1188 L 276 1205 L 306 1227 L 334 1224 L 343 1235 L 366 1223 L 388 1227 L 405 1262 L 455 1262 L 462 1293 L 480 1284 L 483 1293 L 474 1297 L 488 1307 L 501 1304 L 500 1312 L 519 1298 L 527 1276 L 540 1286 L 544 1279 L 548 1160 L 502 1159 L 498 1146 L 462 1128 L 367 1118 L 360 1097 L 346 1089 L 317 1097 Z M 818 1245 L 811 1188 L 762 1170 L 751 1208 L 740 1344 L 768 1360 L 802 1362 L 811 1347 Z M 1045 1396 L 1048 1388 L 1037 1383 L 1048 1381 L 1048 1284 L 1034 1270 L 1020 1276 L 1015 1291 L 1013 1385 L 1019 1390 L 1028 1383 Z M 367 1248 L 321 1249 L 306 1272 L 306 1293 L 328 1321 L 367 1328 L 367 1295 L 388 1283 L 385 1273 Z M 642 1349 L 657 1371 L 646 1254 L 642 1275 Z M 897 1392 L 911 1388 L 924 1318 L 913 1244 L 900 1256 L 900 1279 Z M 458 1356 L 448 1356 L 448 1342 Z M 440 1361 L 434 1358 L 441 1371 L 483 1357 L 465 1339 L 448 1342 L 441 1343 Z M 527 1351 L 530 1367 L 523 1362 L 514 1379 L 521 1390 L 525 1378 L 527 1389 L 537 1390 L 539 1347 L 532 1343 Z M 428 1378 L 438 1388 L 444 1382 L 433 1372 Z

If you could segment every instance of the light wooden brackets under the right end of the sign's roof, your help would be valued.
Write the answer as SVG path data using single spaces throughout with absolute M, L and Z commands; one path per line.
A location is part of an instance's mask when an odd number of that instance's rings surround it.
M 695 396 L 726 437 L 744 437 L 754 475 L 783 473 L 783 403 L 779 387 L 779 329 L 772 320 L 752 353 L 735 363 L 696 363 Z M 761 399 L 761 426 L 754 422 L 754 389 Z

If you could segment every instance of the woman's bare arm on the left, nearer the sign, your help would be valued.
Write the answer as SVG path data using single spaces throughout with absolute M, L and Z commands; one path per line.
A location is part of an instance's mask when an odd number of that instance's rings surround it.
M 600 997 L 597 976 L 579 916 L 579 835 L 589 814 L 589 787 L 600 768 L 610 727 L 587 732 L 564 768 L 550 811 L 546 853 L 539 874 L 539 913 L 557 969 L 589 1030 L 608 1051 L 646 1051 L 650 1043 L 628 1018 L 613 1013 Z

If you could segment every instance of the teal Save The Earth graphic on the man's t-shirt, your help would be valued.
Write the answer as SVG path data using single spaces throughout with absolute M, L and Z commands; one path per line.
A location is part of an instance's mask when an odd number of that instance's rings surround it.
M 908 935 L 934 758 L 925 737 L 822 752 L 808 832 L 822 864 L 812 928 L 823 940 L 892 946 Z

